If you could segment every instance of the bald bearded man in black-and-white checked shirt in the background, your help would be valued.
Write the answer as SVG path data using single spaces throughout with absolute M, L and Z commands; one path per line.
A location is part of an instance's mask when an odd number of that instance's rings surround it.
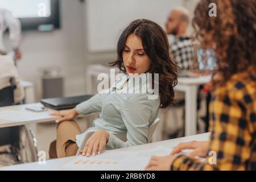
M 166 22 L 166 33 L 175 36 L 170 44 L 170 54 L 175 63 L 186 70 L 193 63 L 193 48 L 187 33 L 188 24 L 189 13 L 183 7 L 172 10 Z

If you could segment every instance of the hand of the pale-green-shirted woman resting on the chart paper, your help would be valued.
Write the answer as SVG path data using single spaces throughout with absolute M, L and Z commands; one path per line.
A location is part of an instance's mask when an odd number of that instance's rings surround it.
M 105 130 L 96 131 L 85 143 L 82 155 L 94 156 L 100 154 L 109 140 L 109 133 Z

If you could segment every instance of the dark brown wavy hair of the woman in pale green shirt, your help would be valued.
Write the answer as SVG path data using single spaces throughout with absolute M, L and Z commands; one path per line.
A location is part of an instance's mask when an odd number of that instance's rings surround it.
M 142 39 L 146 55 L 151 60 L 149 73 L 159 73 L 160 108 L 168 107 L 174 102 L 174 86 L 177 84 L 177 65 L 169 55 L 169 43 L 166 32 L 155 22 L 147 19 L 134 20 L 125 28 L 117 43 L 117 60 L 110 65 L 127 73 L 123 64 L 122 53 L 126 39 L 135 34 Z M 153 80 L 154 81 L 154 80 Z

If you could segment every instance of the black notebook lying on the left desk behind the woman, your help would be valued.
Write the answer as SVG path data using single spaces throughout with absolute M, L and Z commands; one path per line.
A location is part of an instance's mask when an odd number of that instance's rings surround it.
M 51 109 L 62 110 L 62 109 L 72 109 L 76 107 L 77 104 L 89 100 L 93 95 L 85 96 L 74 96 L 74 97 L 56 97 L 56 98 L 44 98 L 40 102 Z

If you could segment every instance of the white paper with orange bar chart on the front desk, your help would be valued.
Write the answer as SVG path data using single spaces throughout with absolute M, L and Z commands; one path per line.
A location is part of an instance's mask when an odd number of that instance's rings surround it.
M 105 151 L 104 154 L 77 156 L 63 166 L 68 170 L 144 170 L 152 155 L 169 155 L 172 148 L 159 146 L 142 152 Z

